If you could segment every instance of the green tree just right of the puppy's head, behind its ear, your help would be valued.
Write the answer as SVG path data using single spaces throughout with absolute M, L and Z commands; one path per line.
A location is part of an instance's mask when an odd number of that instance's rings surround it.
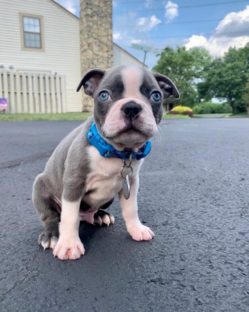
M 206 77 L 211 56 L 203 48 L 166 47 L 153 71 L 168 76 L 180 92 L 179 104 L 193 107 L 199 100 L 197 84 Z

